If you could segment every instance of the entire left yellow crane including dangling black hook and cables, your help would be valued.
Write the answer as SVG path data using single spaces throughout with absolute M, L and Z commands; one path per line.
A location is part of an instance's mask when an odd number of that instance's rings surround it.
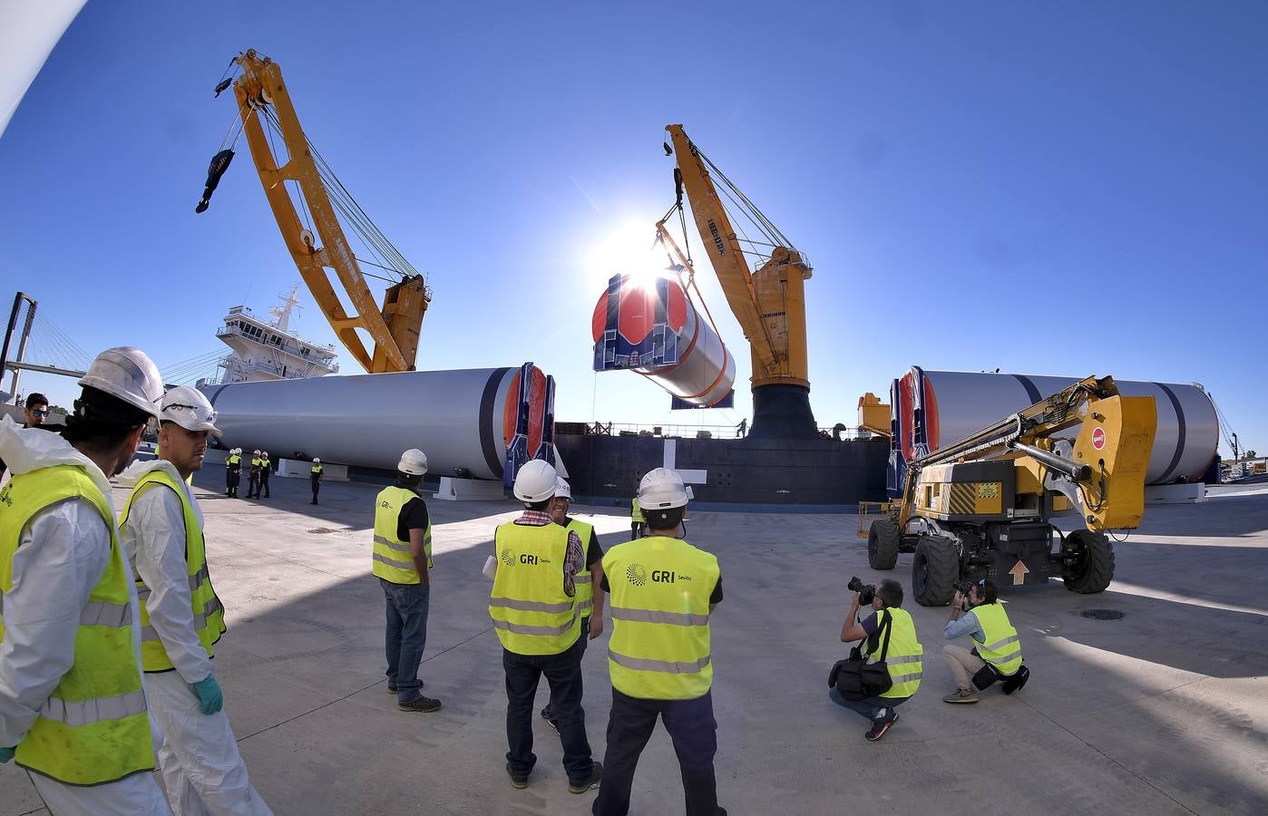
M 304 136 L 278 63 L 249 49 L 230 62 L 226 75 L 231 72 L 236 76 L 222 77 L 216 95 L 233 85 L 238 105 L 235 124 L 241 120 L 241 125 L 232 142 L 226 134 L 222 150 L 212 158 L 197 212 L 207 210 L 212 193 L 233 160 L 233 144 L 245 132 L 287 250 L 340 342 L 372 374 L 412 371 L 422 318 L 431 303 L 424 276 L 374 226 Z M 230 133 L 233 129 L 231 125 Z M 279 137 L 283 151 L 276 150 L 274 136 Z M 356 257 L 339 215 L 359 234 L 374 261 Z M 382 308 L 365 283 L 366 276 L 379 276 L 363 272 L 363 264 L 393 275 L 380 277 L 391 284 Z M 356 314 L 349 314 L 340 303 L 327 270 L 333 270 Z M 365 348 L 358 329 L 373 340 L 373 354 Z

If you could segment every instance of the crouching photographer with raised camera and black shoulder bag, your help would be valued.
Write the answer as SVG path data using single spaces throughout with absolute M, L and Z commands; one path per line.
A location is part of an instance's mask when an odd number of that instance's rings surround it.
M 841 642 L 861 641 L 850 656 L 832 666 L 828 685 L 832 702 L 872 721 L 864 736 L 876 741 L 898 722 L 894 708 L 910 699 L 921 687 L 921 641 L 915 625 L 903 606 L 903 587 L 896 580 L 883 580 L 880 587 L 864 584 L 857 577 L 847 589 L 855 599 L 841 627 Z M 871 604 L 874 612 L 858 620 L 860 604 Z

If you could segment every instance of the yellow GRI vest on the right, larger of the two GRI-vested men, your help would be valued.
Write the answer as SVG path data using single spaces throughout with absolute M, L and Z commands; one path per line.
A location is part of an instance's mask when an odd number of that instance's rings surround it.
M 694 699 L 709 691 L 709 597 L 720 574 L 713 554 L 681 539 L 650 536 L 607 551 L 607 670 L 616 691 L 645 699 Z

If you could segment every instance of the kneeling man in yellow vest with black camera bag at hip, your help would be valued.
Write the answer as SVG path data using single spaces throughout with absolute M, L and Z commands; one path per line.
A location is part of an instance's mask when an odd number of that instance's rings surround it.
M 860 603 L 869 602 L 872 613 L 858 621 Z M 862 654 L 871 658 L 869 663 L 877 661 L 884 655 L 885 666 L 889 669 L 893 684 L 883 694 L 846 699 L 836 688 L 829 692 L 832 702 L 871 720 L 872 727 L 864 736 L 874 743 L 885 736 L 885 732 L 898 722 L 898 712 L 894 708 L 910 699 L 921 687 L 923 674 L 921 655 L 924 649 L 915 635 L 915 623 L 912 622 L 910 613 L 900 608 L 902 606 L 903 585 L 886 578 L 879 587 L 864 587 L 862 592 L 855 593 L 850 613 L 846 615 L 846 622 L 841 627 L 841 642 L 866 640 L 860 645 Z

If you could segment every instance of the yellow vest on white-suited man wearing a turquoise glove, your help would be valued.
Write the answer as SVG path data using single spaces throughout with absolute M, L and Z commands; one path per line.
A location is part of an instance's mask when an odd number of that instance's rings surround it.
M 151 485 L 162 485 L 172 490 L 180 499 L 181 516 L 185 520 L 185 568 L 189 575 L 189 597 L 194 612 L 194 632 L 198 642 L 207 650 L 208 658 L 216 656 L 213 646 L 224 634 L 224 607 L 216 596 L 212 587 L 212 577 L 207 569 L 207 542 L 203 540 L 203 531 L 198 526 L 198 516 L 194 506 L 190 504 L 188 494 L 176 487 L 172 478 L 164 470 L 151 470 L 141 476 L 128 495 L 128 503 L 123 507 L 123 518 L 119 525 L 128 523 L 128 513 L 132 512 L 132 503 L 141 493 Z M 158 632 L 150 625 L 150 609 L 146 601 L 150 598 L 151 588 L 137 577 L 137 598 L 141 601 L 141 668 L 145 672 L 158 673 L 171 672 L 171 658 L 162 645 Z

